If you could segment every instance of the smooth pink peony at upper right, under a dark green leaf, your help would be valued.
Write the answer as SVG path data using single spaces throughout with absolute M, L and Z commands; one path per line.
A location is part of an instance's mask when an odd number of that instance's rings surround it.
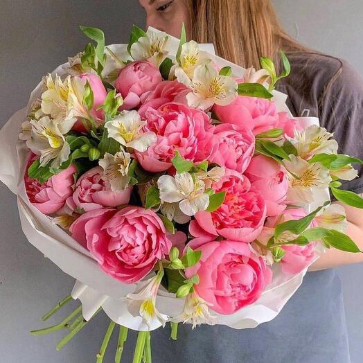
M 238 96 L 230 105 L 215 105 L 214 112 L 222 123 L 247 127 L 255 135 L 272 130 L 278 125 L 275 103 L 264 98 Z

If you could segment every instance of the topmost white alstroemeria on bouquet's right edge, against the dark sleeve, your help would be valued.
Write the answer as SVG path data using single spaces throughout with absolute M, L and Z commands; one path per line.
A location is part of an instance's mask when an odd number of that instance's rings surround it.
M 290 139 L 299 157 L 308 159 L 314 154 L 337 154 L 338 143 L 331 139 L 333 134 L 324 127 L 310 125 L 303 131 L 294 130 L 294 138 Z

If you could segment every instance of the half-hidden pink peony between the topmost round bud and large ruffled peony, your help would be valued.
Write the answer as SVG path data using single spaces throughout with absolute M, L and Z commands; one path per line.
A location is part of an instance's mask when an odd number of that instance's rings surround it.
M 170 102 L 187 105 L 186 95 L 190 91 L 191 90 L 188 89 L 188 87 L 177 82 L 177 80 L 165 80 L 159 83 L 154 91 L 150 91 L 148 94 L 143 95 L 145 97 L 141 99 L 143 105 L 139 108 L 139 114 L 141 118 L 145 118 L 145 112 L 149 107 L 158 109 L 162 105 Z

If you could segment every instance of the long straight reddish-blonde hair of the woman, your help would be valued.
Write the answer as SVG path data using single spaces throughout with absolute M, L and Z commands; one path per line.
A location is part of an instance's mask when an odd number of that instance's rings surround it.
M 185 0 L 192 39 L 213 43 L 221 57 L 260 68 L 260 57 L 277 61 L 278 51 L 310 51 L 288 35 L 270 0 Z M 276 62 L 278 63 L 278 62 Z

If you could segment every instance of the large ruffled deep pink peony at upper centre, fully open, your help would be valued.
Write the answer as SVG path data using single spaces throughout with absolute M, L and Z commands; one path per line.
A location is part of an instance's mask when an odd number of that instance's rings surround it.
M 198 109 L 179 103 L 167 103 L 159 109 L 148 109 L 145 131 L 157 134 L 157 142 L 147 151 L 136 153 L 141 166 L 150 172 L 162 172 L 172 166 L 178 150 L 192 161 L 209 159 L 218 146 L 209 116 Z

